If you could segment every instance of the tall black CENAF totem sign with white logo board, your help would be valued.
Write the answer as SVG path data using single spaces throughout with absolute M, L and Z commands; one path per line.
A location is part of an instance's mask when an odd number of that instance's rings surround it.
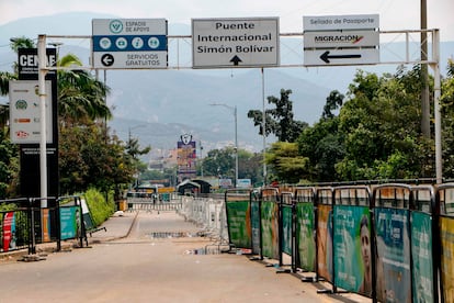
M 18 57 L 18 69 L 19 69 L 19 81 L 29 82 L 34 80 L 37 85 L 38 80 L 38 58 L 37 48 L 19 48 Z M 56 66 L 57 64 L 57 49 L 46 49 L 46 65 Z M 48 197 L 57 197 L 59 194 L 59 177 L 58 177 L 58 114 L 57 114 L 57 71 L 49 70 L 46 74 L 46 94 L 52 97 L 47 105 L 46 111 L 46 126 L 47 136 L 47 176 L 48 176 Z M 41 175 L 39 175 L 39 131 L 36 131 L 36 126 L 39 125 L 41 115 L 39 102 L 37 94 L 33 96 L 35 91 L 35 85 L 33 89 L 26 88 L 29 93 L 26 98 L 14 98 L 10 100 L 10 110 L 15 111 L 16 115 L 10 119 L 11 126 L 15 127 L 15 131 L 11 132 L 12 139 L 20 144 L 21 148 L 21 195 L 23 197 L 39 197 L 41 194 Z M 22 86 L 19 83 L 19 86 Z M 47 91 L 50 89 L 50 92 Z M 10 89 L 11 93 L 14 93 Z M 20 101 L 22 100 L 22 101 Z M 52 101 L 50 101 L 52 100 Z M 25 101 L 25 102 L 23 102 Z M 25 104 L 26 103 L 26 104 Z M 55 203 L 49 200 L 48 203 Z M 54 206 L 48 204 L 48 206 Z

